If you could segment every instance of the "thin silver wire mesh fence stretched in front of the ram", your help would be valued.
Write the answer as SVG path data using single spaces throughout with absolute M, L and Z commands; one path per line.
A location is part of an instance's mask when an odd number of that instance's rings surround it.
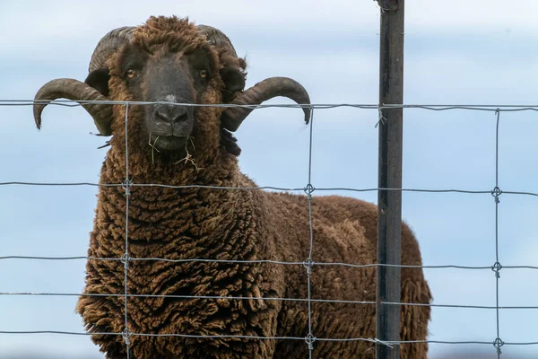
M 506 310 L 538 310 L 538 306 L 500 306 L 499 305 L 499 278 L 501 270 L 509 269 L 530 269 L 538 270 L 538 267 L 534 266 L 502 266 L 499 258 L 499 198 L 501 196 L 528 196 L 538 197 L 538 192 L 516 191 L 516 190 L 502 190 L 499 188 L 499 123 L 502 112 L 514 112 L 514 111 L 538 111 L 538 105 L 371 105 L 371 104 L 312 104 L 312 105 L 297 105 L 297 104 L 267 104 L 267 105 L 195 105 L 195 104 L 182 104 L 178 103 L 178 106 L 194 106 L 194 107 L 247 107 L 252 109 L 264 109 L 264 108 L 304 108 L 309 107 L 311 109 L 310 122 L 309 122 L 309 141 L 308 141 L 308 176 L 307 184 L 302 188 L 279 188 L 279 187 L 218 187 L 218 186 L 204 186 L 204 185 L 185 185 L 185 186 L 170 186 L 166 183 L 134 183 L 129 177 L 129 150 L 128 150 L 128 109 L 134 105 L 152 105 L 161 102 L 136 102 L 136 101 L 25 101 L 25 100 L 0 100 L 1 106 L 33 106 L 35 102 L 50 103 L 57 106 L 78 107 L 85 103 L 99 102 L 102 104 L 114 104 L 123 105 L 126 108 L 125 127 L 126 127 L 126 176 L 125 181 L 122 183 L 91 183 L 91 182 L 24 182 L 24 181 L 5 181 L 0 182 L 0 186 L 93 186 L 93 187 L 117 187 L 123 188 L 126 197 L 126 228 L 125 228 L 125 253 L 121 258 L 95 258 L 87 256 L 74 256 L 74 257 L 37 257 L 37 256 L 13 256 L 6 255 L 0 257 L 0 260 L 102 260 L 102 261 L 120 261 L 124 264 L 124 293 L 34 293 L 34 292 L 0 292 L 0 296 L 6 295 L 30 295 L 30 296 L 103 296 L 103 297 L 122 297 L 125 302 L 125 329 L 122 332 L 117 333 L 85 333 L 85 332 L 69 332 L 69 331 L 0 331 L 0 334 L 59 334 L 59 335 L 114 335 L 121 336 L 125 340 L 127 358 L 129 357 L 129 347 L 131 345 L 131 337 L 209 337 L 209 338 L 239 338 L 239 339 L 254 339 L 254 340 L 293 340 L 302 341 L 308 346 L 309 356 L 312 357 L 315 342 L 353 342 L 353 341 L 367 341 L 382 346 L 397 346 L 400 344 L 410 343 L 430 343 L 430 344 L 446 344 L 446 345 L 464 345 L 464 344 L 476 344 L 476 345 L 489 345 L 494 346 L 498 357 L 501 355 L 502 346 L 534 346 L 538 345 L 536 342 L 505 342 L 502 340 L 502 332 L 499 326 L 499 311 Z M 165 102 L 162 102 L 165 103 Z M 166 102 L 166 104 L 170 104 Z M 319 109 L 334 109 L 340 107 L 349 107 L 355 109 L 372 109 L 377 110 L 379 113 L 379 122 L 386 119 L 381 116 L 381 109 L 424 109 L 431 111 L 445 111 L 445 110 L 474 110 L 474 111 L 490 111 L 496 116 L 496 130 L 495 130 L 495 186 L 494 188 L 483 188 L 481 190 L 469 190 L 464 188 L 438 188 L 438 189 L 425 189 L 425 188 L 316 188 L 312 184 L 312 147 L 313 147 L 313 134 L 314 134 L 314 112 Z M 377 123 L 378 124 L 378 123 Z M 377 127 L 377 125 L 376 125 Z M 129 200 L 132 196 L 131 188 L 135 187 L 161 187 L 161 188 L 207 188 L 213 190 L 278 190 L 288 192 L 304 192 L 306 194 L 308 205 L 308 219 L 309 219 L 309 238 L 308 241 L 308 257 L 303 261 L 280 261 L 270 259 L 260 260 L 229 260 L 229 259 L 212 259 L 212 258 L 185 258 L 185 259 L 169 259 L 169 258 L 133 258 L 129 253 Z M 312 195 L 315 192 L 330 192 L 330 191 L 343 191 L 343 192 L 374 192 L 379 190 L 388 191 L 403 191 L 403 192 L 425 192 L 425 193 L 459 193 L 464 195 L 482 195 L 491 196 L 495 206 L 495 260 L 492 265 L 487 266 L 456 266 L 456 265 L 437 265 L 437 266 L 395 266 L 386 264 L 358 264 L 358 263 L 336 263 L 336 262 L 317 262 L 313 258 L 313 250 L 316 244 L 316 238 L 313 231 L 313 218 L 312 218 Z M 212 295 L 169 295 L 169 294 L 137 294 L 129 293 L 128 291 L 128 271 L 129 263 L 135 261 L 166 261 L 172 263 L 186 263 L 186 262 L 213 262 L 213 263 L 233 263 L 233 264 L 274 264 L 281 266 L 302 266 L 305 268 L 305 276 L 307 276 L 308 284 L 308 296 L 307 298 L 275 298 L 275 297 L 237 297 L 237 296 L 212 296 Z M 311 295 L 311 276 L 312 269 L 314 267 L 352 267 L 352 268 L 367 268 L 367 267 L 402 267 L 402 268 L 430 268 L 430 269 L 447 269 L 456 268 L 461 270 L 482 270 L 492 271 L 495 276 L 495 298 L 496 305 L 494 306 L 482 306 L 482 305 L 456 305 L 456 304 L 423 304 L 415 302 L 384 302 L 383 305 L 406 305 L 406 306 L 430 306 L 430 307 L 442 307 L 442 308 L 460 308 L 470 310 L 491 310 L 496 313 L 496 337 L 491 341 L 439 341 L 439 340 L 415 340 L 415 341 L 380 341 L 376 337 L 316 337 L 312 328 L 312 307 L 311 304 L 315 302 L 329 302 L 329 303 L 347 303 L 347 304 L 376 304 L 376 302 L 368 301 L 355 301 L 355 300 L 334 300 L 330 298 L 312 298 Z M 195 336 L 181 333 L 170 334 L 150 334 L 150 333 L 135 333 L 129 330 L 128 327 L 128 299 L 129 298 L 176 298 L 176 299 L 204 299 L 204 300 L 229 300 L 229 301 L 242 301 L 248 300 L 260 300 L 260 301 L 290 301 L 290 302 L 306 302 L 308 304 L 308 333 L 305 337 L 256 337 L 256 336 L 239 336 L 239 335 L 221 335 L 221 336 Z M 399 320 L 399 319 L 398 319 Z

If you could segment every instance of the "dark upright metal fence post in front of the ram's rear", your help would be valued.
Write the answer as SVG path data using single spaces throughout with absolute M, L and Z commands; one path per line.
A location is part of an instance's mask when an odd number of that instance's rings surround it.
M 377 0 L 381 7 L 379 49 L 378 187 L 402 188 L 403 109 L 382 105 L 404 101 L 404 0 Z M 402 192 L 379 190 L 377 263 L 401 264 Z M 400 340 L 400 267 L 377 267 L 377 339 Z M 377 344 L 377 359 L 399 359 L 400 347 Z

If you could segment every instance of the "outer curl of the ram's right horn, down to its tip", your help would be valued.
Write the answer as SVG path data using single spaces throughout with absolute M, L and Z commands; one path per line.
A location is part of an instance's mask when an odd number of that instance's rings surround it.
M 288 77 L 269 77 L 260 83 L 256 83 L 247 91 L 241 93 L 234 101 L 233 105 L 259 105 L 260 103 L 273 99 L 273 97 L 287 97 L 299 105 L 309 105 L 310 98 L 305 88 L 297 81 Z M 310 108 L 303 107 L 305 122 L 310 119 Z M 231 132 L 235 132 L 253 108 L 232 107 L 222 113 L 222 127 Z

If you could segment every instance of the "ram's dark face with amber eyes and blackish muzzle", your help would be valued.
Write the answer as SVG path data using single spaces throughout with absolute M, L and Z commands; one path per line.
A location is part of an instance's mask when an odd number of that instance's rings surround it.
M 176 151 L 186 145 L 195 127 L 195 107 L 178 104 L 200 103 L 209 81 L 218 74 L 212 56 L 208 48 L 184 53 L 169 52 L 163 46 L 149 54 L 127 45 L 117 57 L 117 69 L 111 75 L 121 78 L 133 101 L 159 102 L 143 106 L 141 128 L 159 151 Z M 100 87 L 91 83 L 91 74 L 86 83 Z

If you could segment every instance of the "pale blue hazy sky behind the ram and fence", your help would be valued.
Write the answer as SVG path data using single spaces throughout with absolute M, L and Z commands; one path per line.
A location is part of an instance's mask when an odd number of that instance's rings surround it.
M 405 9 L 404 102 L 535 104 L 538 2 L 409 0 Z M 84 80 L 93 48 L 109 30 L 150 15 L 189 16 L 229 35 L 247 55 L 247 85 L 295 78 L 314 103 L 377 103 L 379 10 L 362 1 L 3 1 L 0 99 L 30 100 L 51 79 Z M 273 103 L 290 103 L 278 99 Z M 312 183 L 317 188 L 377 187 L 377 111 L 316 110 Z M 538 114 L 502 113 L 499 187 L 538 192 Z M 0 182 L 97 182 L 106 149 L 81 108 L 49 106 L 38 132 L 30 107 L 0 106 Z M 490 190 L 495 185 L 495 115 L 404 111 L 404 188 Z M 299 109 L 258 109 L 237 133 L 240 166 L 260 186 L 304 187 L 308 127 Z M 85 256 L 95 187 L 0 186 L 0 256 Z M 372 202 L 376 192 L 342 193 Z M 537 197 L 502 195 L 499 260 L 538 266 Z M 425 265 L 491 266 L 495 205 L 490 194 L 404 193 L 404 220 Z M 316 247 L 314 260 L 316 260 Z M 319 249 L 321 250 L 321 249 Z M 0 260 L 0 292 L 81 293 L 83 260 Z M 437 304 L 495 305 L 490 269 L 425 269 Z M 499 303 L 538 306 L 532 269 L 502 269 Z M 82 332 L 76 296 L 0 295 L 0 331 Z M 505 342 L 538 341 L 536 310 L 500 311 Z M 494 310 L 434 308 L 430 340 L 488 341 Z M 430 357 L 493 346 L 430 345 Z M 0 334 L 0 356 L 32 352 L 99 358 L 90 337 Z M 538 346 L 503 346 L 507 357 L 536 357 Z

